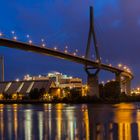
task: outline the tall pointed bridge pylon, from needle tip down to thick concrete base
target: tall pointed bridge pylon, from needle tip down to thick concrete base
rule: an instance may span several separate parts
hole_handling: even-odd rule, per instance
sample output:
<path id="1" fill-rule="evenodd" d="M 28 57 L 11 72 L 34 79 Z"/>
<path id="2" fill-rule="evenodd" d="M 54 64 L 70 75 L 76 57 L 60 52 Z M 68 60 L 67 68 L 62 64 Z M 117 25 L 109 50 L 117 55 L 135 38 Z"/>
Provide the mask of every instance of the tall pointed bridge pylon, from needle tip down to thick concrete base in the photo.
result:
<path id="1" fill-rule="evenodd" d="M 85 58 L 90 59 L 90 49 L 91 49 L 91 39 L 93 39 L 93 44 L 95 48 L 95 56 L 96 62 L 98 62 L 98 67 L 90 67 L 85 64 L 85 71 L 87 73 L 87 84 L 88 84 L 88 95 L 99 97 L 99 82 L 98 82 L 98 73 L 100 71 L 101 59 L 99 55 L 95 29 L 94 29 L 94 15 L 93 15 L 93 7 L 90 7 L 90 28 L 88 33 L 88 41 Z"/>

